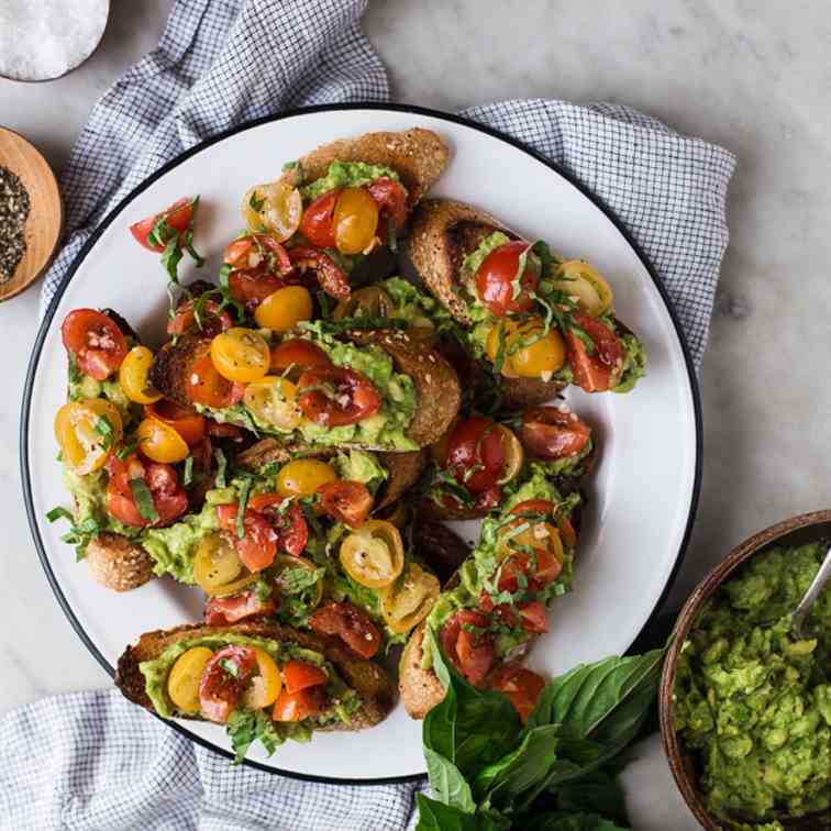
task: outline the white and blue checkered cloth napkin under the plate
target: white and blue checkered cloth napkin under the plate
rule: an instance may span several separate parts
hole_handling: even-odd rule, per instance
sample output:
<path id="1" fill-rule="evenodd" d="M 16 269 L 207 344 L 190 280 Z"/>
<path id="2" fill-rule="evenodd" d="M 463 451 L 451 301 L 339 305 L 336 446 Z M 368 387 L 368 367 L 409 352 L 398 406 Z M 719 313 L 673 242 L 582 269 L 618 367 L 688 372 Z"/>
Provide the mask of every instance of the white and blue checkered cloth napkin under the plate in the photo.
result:
<path id="1" fill-rule="evenodd" d="M 361 31 L 366 0 L 177 0 L 157 49 L 96 104 L 63 179 L 66 245 L 42 309 L 111 208 L 146 176 L 247 119 L 387 101 Z M 625 107 L 505 101 L 463 113 L 554 159 L 623 221 L 656 267 L 698 364 L 728 241 L 734 158 Z M 0 824 L 15 829 L 401 829 L 412 785 L 302 783 L 192 744 L 110 691 L 59 696 L 0 721 Z"/>

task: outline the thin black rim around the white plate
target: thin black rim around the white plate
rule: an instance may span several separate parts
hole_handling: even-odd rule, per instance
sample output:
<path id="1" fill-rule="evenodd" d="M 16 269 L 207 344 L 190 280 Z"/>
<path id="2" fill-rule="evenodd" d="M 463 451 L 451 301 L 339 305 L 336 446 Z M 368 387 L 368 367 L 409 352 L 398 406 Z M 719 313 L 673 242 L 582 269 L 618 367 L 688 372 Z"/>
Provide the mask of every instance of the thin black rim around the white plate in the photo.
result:
<path id="1" fill-rule="evenodd" d="M 182 162 L 190 158 L 191 156 L 196 155 L 197 153 L 200 153 L 207 147 L 210 147 L 212 144 L 217 144 L 218 142 L 224 141 L 225 138 L 236 135 L 237 133 L 242 133 L 245 130 L 251 130 L 253 128 L 261 126 L 262 124 L 267 124 L 269 122 L 282 121 L 285 119 L 297 118 L 297 117 L 309 114 L 309 113 L 336 112 L 336 111 L 342 111 L 342 110 L 353 110 L 353 111 L 354 110 L 368 110 L 368 111 L 374 110 L 376 112 L 385 112 L 385 111 L 399 112 L 399 113 L 403 112 L 403 113 L 411 113 L 414 115 L 425 115 L 429 118 L 434 118 L 442 121 L 448 121 L 455 124 L 461 124 L 472 130 L 476 130 L 480 133 L 485 133 L 486 135 L 489 135 L 494 138 L 498 138 L 505 142 L 506 144 L 509 144 L 512 147 L 521 151 L 522 153 L 525 153 L 532 156 L 538 162 L 541 162 L 547 168 L 556 173 L 558 176 L 562 176 L 566 181 L 573 185 L 580 193 L 583 193 L 584 197 L 586 197 L 591 202 L 594 202 L 594 204 L 596 204 L 603 212 L 603 214 L 611 221 L 611 223 L 623 235 L 623 237 L 629 243 L 631 248 L 638 255 L 639 259 L 641 261 L 644 268 L 646 269 L 650 277 L 652 278 L 652 281 L 654 282 L 655 288 L 661 295 L 661 298 L 664 301 L 664 306 L 669 314 L 669 319 L 672 320 L 673 326 L 675 329 L 676 336 L 678 337 L 678 342 L 680 343 L 682 352 L 684 354 L 684 362 L 687 368 L 687 376 L 689 379 L 689 388 L 690 388 L 690 394 L 693 398 L 693 409 L 694 409 L 695 429 L 696 429 L 695 481 L 693 484 L 693 494 L 690 498 L 689 514 L 687 517 L 687 525 L 684 530 L 684 538 L 682 539 L 680 546 L 678 547 L 678 553 L 676 554 L 676 557 L 675 557 L 675 564 L 673 565 L 669 577 L 666 581 L 666 585 L 664 586 L 664 590 L 661 592 L 661 597 L 657 599 L 657 602 L 655 603 L 652 612 L 650 613 L 650 617 L 646 619 L 646 622 L 643 624 L 643 628 L 641 629 L 641 633 L 639 634 L 639 638 L 655 621 L 655 618 L 657 617 L 661 610 L 661 607 L 664 605 L 664 601 L 666 600 L 669 589 L 672 588 L 672 585 L 675 581 L 675 578 L 678 574 L 678 569 L 684 559 L 684 555 L 687 551 L 687 545 L 689 543 L 689 536 L 693 531 L 693 522 L 695 520 L 696 511 L 698 509 L 698 499 L 699 499 L 699 495 L 701 490 L 701 464 L 702 464 L 701 457 L 702 457 L 702 451 L 703 451 L 702 429 L 701 429 L 701 399 L 700 399 L 700 392 L 698 389 L 698 380 L 696 378 L 695 367 L 693 365 L 693 359 L 689 354 L 689 347 L 687 346 L 687 341 L 684 335 L 684 331 L 680 328 L 680 323 L 678 322 L 678 318 L 675 312 L 675 309 L 673 308 L 673 303 L 669 300 L 666 289 L 661 282 L 661 279 L 658 278 L 657 273 L 655 272 L 655 268 L 652 266 L 649 258 L 646 257 L 644 252 L 641 250 L 640 245 L 632 237 L 632 235 L 630 234 L 625 225 L 603 203 L 601 199 L 599 199 L 595 193 L 588 190 L 586 186 L 583 185 L 579 180 L 577 180 L 574 176 L 572 176 L 572 174 L 564 170 L 562 167 L 559 167 L 558 165 L 556 165 L 555 163 L 553 163 L 551 159 L 546 158 L 545 156 L 541 155 L 536 151 L 528 147 L 525 144 L 518 141 L 517 138 L 513 138 L 512 136 L 500 133 L 498 130 L 494 130 L 492 128 L 486 126 L 484 124 L 478 124 L 475 121 L 470 121 L 468 119 L 462 118 L 459 115 L 454 115 L 452 113 L 442 112 L 440 110 L 431 110 L 425 107 L 418 107 L 416 104 L 354 102 L 354 103 L 340 103 L 340 104 L 319 104 L 317 107 L 303 107 L 303 108 L 298 108 L 293 110 L 286 110 L 276 115 L 266 115 L 264 118 L 255 119 L 253 121 L 246 121 L 243 124 L 240 124 L 235 128 L 225 130 L 224 132 L 219 133 L 212 138 L 208 138 L 201 142 L 200 144 L 197 144 L 196 146 L 180 154 L 173 160 L 168 162 L 166 165 L 160 167 L 154 174 L 148 176 L 141 185 L 134 188 L 126 197 L 124 197 L 124 199 L 122 199 L 119 202 L 119 204 L 115 206 L 115 208 L 113 208 L 110 211 L 110 213 L 107 214 L 103 221 L 92 232 L 92 235 L 89 237 L 89 240 L 87 240 L 86 244 L 80 250 L 80 252 L 78 252 L 78 255 L 76 256 L 75 261 L 69 267 L 69 270 L 67 272 L 66 276 L 62 280 L 60 286 L 58 286 L 58 289 L 55 292 L 55 296 L 53 297 L 52 302 L 49 303 L 49 308 L 47 309 L 46 314 L 44 315 L 43 322 L 41 323 L 41 328 L 37 332 L 37 337 L 35 340 L 34 347 L 32 351 L 32 357 L 29 363 L 29 370 L 26 373 L 26 383 L 23 389 L 23 401 L 22 401 L 21 419 L 20 419 L 20 468 L 21 468 L 21 478 L 23 480 L 23 498 L 25 501 L 26 514 L 29 518 L 29 527 L 32 531 L 32 538 L 34 539 L 35 547 L 37 549 L 37 555 L 41 559 L 41 565 L 43 566 L 43 569 L 46 573 L 46 578 L 48 579 L 49 585 L 52 586 L 52 590 L 55 594 L 55 597 L 57 598 L 57 601 L 60 605 L 60 608 L 64 610 L 64 613 L 69 619 L 69 622 L 71 623 L 73 629 L 75 630 L 76 634 L 84 642 L 84 645 L 89 650 L 89 652 L 93 655 L 93 657 L 98 661 L 98 663 L 104 668 L 104 671 L 111 677 L 114 677 L 115 675 L 114 667 L 110 665 L 107 658 L 101 654 L 98 647 L 92 643 L 90 636 L 87 634 L 84 627 L 80 624 L 80 621 L 75 617 L 75 612 L 73 608 L 69 606 L 69 602 L 67 601 L 66 597 L 64 596 L 63 590 L 60 589 L 60 586 L 58 585 L 58 580 L 55 576 L 55 573 L 52 570 L 52 566 L 46 555 L 46 549 L 43 544 L 43 539 L 41 538 L 41 532 L 37 527 L 37 518 L 35 516 L 34 505 L 33 505 L 33 499 L 32 499 L 32 477 L 29 469 L 30 401 L 32 398 L 32 389 L 34 387 L 34 379 L 35 379 L 36 370 L 37 370 L 37 365 L 40 363 L 41 353 L 43 351 L 43 342 L 46 337 L 46 333 L 48 332 L 49 326 L 52 325 L 52 320 L 55 315 L 55 311 L 57 310 L 58 303 L 60 302 L 60 299 L 64 296 L 64 291 L 66 290 L 66 287 L 69 285 L 69 281 L 71 280 L 73 276 L 78 270 L 78 268 L 80 267 L 80 264 L 84 262 L 84 259 L 86 258 L 87 254 L 90 252 L 92 246 L 95 246 L 95 244 L 98 242 L 98 239 L 101 236 L 103 231 L 107 228 L 109 228 L 109 225 L 118 218 L 121 211 L 124 208 L 126 208 L 126 206 L 130 202 L 132 202 L 133 199 L 135 199 L 135 197 L 138 196 L 138 193 L 146 190 L 151 185 L 153 185 L 157 179 L 162 178 L 165 174 L 173 170 L 175 167 L 178 167 L 178 165 L 180 165 Z M 181 724 L 178 724 L 171 721 L 165 721 L 164 719 L 160 719 L 160 717 L 158 716 L 156 718 L 159 718 L 159 720 L 164 721 L 165 724 L 173 728 L 174 730 L 181 733 L 182 735 L 186 735 L 188 739 L 196 742 L 197 744 L 200 744 L 207 750 L 213 751 L 214 753 L 219 753 L 225 756 L 226 758 L 233 758 L 233 756 L 228 751 L 214 745 L 212 742 L 206 739 L 202 739 L 199 735 L 196 735 L 195 733 L 191 733 L 190 730 L 182 727 Z M 251 767 L 257 768 L 259 771 L 265 771 L 266 773 L 277 774 L 280 776 L 287 776 L 289 778 L 300 779 L 303 782 L 317 782 L 317 783 L 324 783 L 329 785 L 394 785 L 394 784 L 403 784 L 403 783 L 416 783 L 416 782 L 422 780 L 425 777 L 425 774 L 422 773 L 422 774 L 412 774 L 412 775 L 407 775 L 407 776 L 390 776 L 390 777 L 379 777 L 379 778 L 372 778 L 372 779 L 333 778 L 330 776 L 314 776 L 311 774 L 301 774 L 301 773 L 296 773 L 293 771 L 281 771 L 277 767 L 270 767 L 259 762 L 253 762 L 253 761 L 247 761 L 247 760 L 245 764 L 250 765 Z"/>

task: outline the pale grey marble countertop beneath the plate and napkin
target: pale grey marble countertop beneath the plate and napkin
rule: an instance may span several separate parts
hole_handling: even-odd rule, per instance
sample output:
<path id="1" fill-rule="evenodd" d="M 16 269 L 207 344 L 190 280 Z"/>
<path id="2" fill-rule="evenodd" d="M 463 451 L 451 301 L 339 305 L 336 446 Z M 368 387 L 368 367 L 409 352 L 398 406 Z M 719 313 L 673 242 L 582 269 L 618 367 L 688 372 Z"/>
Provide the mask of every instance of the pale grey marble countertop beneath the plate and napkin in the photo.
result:
<path id="1" fill-rule="evenodd" d="M 0 80 L 0 123 L 26 135 L 59 170 L 95 100 L 155 45 L 170 4 L 113 3 L 101 47 L 66 78 Z M 700 376 L 703 490 L 671 602 L 752 532 L 831 506 L 823 462 L 831 416 L 826 4 L 378 0 L 365 27 L 396 100 L 446 110 L 509 97 L 614 101 L 738 155 L 731 242 Z M 19 390 L 36 311 L 36 288 L 0 304 L 4 348 L 15 356 L 0 401 L 0 712 L 106 683 L 48 590 L 21 498 Z M 635 828 L 697 828 L 657 741 L 635 755 L 628 771 Z"/>

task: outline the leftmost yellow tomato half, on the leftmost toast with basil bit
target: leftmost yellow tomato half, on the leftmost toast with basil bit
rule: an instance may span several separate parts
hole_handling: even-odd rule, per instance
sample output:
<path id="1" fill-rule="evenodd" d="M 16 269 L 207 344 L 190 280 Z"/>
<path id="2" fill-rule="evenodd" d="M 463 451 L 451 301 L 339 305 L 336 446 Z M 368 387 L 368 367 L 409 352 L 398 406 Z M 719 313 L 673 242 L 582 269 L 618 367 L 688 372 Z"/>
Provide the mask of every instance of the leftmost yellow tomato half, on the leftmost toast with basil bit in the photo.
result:
<path id="1" fill-rule="evenodd" d="M 103 467 L 123 434 L 121 413 L 104 398 L 70 401 L 55 414 L 55 437 L 64 462 L 80 475 Z"/>

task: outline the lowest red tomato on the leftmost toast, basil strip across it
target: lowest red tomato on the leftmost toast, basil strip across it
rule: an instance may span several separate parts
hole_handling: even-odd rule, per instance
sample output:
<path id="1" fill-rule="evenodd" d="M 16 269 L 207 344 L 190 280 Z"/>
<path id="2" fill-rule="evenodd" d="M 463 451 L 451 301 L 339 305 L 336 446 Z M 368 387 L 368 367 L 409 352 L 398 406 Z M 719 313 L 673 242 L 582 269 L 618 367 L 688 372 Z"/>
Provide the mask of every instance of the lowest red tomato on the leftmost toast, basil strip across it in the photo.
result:
<path id="1" fill-rule="evenodd" d="M 107 470 L 110 474 L 107 484 L 107 510 L 125 525 L 163 528 L 187 510 L 188 497 L 179 487 L 176 469 L 170 465 L 145 462 L 133 453 L 124 461 L 111 455 L 107 461 Z M 131 479 L 144 480 L 158 514 L 157 520 L 142 517 L 130 486 Z"/>

